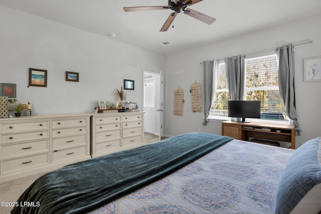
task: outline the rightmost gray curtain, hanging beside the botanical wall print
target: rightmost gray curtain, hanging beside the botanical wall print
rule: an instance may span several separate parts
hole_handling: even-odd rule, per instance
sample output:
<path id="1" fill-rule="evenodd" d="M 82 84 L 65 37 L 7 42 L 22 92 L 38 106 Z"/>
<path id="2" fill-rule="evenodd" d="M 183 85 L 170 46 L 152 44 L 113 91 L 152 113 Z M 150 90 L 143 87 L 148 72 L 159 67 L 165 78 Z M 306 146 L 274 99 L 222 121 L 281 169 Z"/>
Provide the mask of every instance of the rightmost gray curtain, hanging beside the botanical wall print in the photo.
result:
<path id="1" fill-rule="evenodd" d="M 297 121 L 295 107 L 294 87 L 294 52 L 293 45 L 278 47 L 276 50 L 278 60 L 279 91 L 285 111 L 292 124 L 295 125 L 296 135 L 300 135 L 300 124 Z"/>

